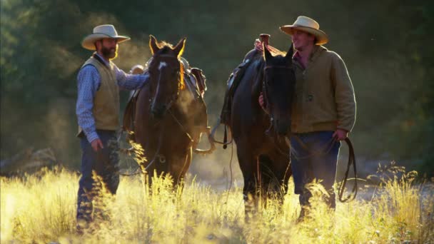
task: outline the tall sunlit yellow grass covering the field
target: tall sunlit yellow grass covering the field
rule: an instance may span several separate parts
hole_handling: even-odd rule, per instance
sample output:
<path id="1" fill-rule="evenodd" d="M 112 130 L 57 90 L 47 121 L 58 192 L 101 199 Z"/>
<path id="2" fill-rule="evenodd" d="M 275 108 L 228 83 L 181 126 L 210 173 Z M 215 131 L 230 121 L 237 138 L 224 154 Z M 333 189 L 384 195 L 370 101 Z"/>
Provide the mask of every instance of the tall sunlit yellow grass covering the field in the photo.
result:
<path id="1" fill-rule="evenodd" d="M 296 223 L 300 206 L 289 193 L 248 223 L 241 188 L 216 192 L 191 179 L 183 193 L 158 178 L 151 188 L 140 176 L 123 177 L 116 198 L 104 198 L 104 221 L 75 233 L 79 176 L 63 169 L 24 178 L 1 178 L 1 243 L 434 243 L 431 184 L 413 173 L 384 178 L 351 203 L 330 213 L 321 187 L 312 188 L 313 209 Z M 367 190 L 367 191 L 366 191 Z M 373 193 L 373 194 L 372 194 Z M 368 199 L 368 200 L 366 200 Z"/>

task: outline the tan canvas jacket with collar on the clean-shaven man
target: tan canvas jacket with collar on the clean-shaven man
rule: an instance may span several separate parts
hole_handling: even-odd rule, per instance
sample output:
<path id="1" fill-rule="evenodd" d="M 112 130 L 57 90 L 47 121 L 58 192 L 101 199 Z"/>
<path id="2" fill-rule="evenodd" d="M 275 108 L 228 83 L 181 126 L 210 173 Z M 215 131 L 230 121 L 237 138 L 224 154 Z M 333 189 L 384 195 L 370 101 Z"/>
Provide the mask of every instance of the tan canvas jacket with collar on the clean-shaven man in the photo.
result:
<path id="1" fill-rule="evenodd" d="M 306 69 L 294 59 L 296 91 L 292 133 L 351 131 L 355 123 L 353 84 L 338 54 L 316 46 Z"/>

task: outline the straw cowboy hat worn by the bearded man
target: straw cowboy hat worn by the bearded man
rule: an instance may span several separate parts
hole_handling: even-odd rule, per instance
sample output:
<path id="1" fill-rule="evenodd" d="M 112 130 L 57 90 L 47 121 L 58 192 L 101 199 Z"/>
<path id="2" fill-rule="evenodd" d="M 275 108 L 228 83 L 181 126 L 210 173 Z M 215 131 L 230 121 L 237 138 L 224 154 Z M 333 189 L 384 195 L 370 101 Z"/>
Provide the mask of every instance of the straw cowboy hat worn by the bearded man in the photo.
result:
<path id="1" fill-rule="evenodd" d="M 94 33 L 86 36 L 81 42 L 81 46 L 88 50 L 95 50 L 95 41 L 103 38 L 117 39 L 118 43 L 122 41 L 128 41 L 130 38 L 128 36 L 118 36 L 118 32 L 114 29 L 111 24 L 103 24 L 101 26 L 96 26 L 94 28 Z"/>

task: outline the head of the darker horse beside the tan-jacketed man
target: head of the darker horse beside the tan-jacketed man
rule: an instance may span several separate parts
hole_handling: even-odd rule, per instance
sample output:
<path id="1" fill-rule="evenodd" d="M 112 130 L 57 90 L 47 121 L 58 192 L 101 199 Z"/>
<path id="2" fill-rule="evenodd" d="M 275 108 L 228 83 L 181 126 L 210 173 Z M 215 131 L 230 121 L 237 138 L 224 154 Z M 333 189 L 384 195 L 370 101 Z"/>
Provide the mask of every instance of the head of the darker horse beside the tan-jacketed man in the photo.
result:
<path id="1" fill-rule="evenodd" d="M 273 56 L 263 46 L 263 96 L 270 111 L 271 123 L 278 135 L 286 135 L 291 129 L 291 104 L 296 84 L 292 56 L 292 45 L 285 56 Z"/>

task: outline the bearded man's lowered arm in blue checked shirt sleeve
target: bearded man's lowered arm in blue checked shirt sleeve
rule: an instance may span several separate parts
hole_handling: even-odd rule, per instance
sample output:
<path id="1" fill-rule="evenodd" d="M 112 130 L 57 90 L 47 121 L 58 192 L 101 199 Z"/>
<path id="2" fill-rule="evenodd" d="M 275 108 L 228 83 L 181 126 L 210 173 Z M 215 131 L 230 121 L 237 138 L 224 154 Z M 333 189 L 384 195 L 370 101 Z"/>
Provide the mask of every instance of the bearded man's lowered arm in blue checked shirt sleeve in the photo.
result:
<path id="1" fill-rule="evenodd" d="M 95 118 L 92 113 L 94 97 L 101 84 L 101 78 L 94 66 L 88 65 L 81 68 L 77 76 L 78 98 L 76 115 L 79 126 L 83 129 L 89 143 L 99 139 L 96 133 Z"/>

